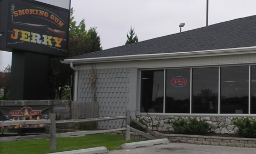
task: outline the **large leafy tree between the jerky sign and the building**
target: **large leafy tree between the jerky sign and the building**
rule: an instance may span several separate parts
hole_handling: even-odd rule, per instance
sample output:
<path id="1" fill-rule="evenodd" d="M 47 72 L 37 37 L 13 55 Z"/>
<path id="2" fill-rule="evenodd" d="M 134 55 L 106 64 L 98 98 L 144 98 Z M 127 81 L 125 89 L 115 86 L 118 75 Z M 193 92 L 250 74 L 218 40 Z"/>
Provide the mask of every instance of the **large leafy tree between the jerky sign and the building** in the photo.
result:
<path id="1" fill-rule="evenodd" d="M 62 99 L 70 91 L 71 76 L 73 70 L 67 64 L 62 64 L 60 61 L 77 55 L 91 53 L 102 50 L 100 43 L 100 36 L 98 36 L 97 28 L 90 28 L 88 31 L 85 29 L 85 20 L 83 19 L 76 26 L 76 21 L 73 16 L 73 8 L 70 10 L 69 21 L 69 43 L 68 53 L 65 58 L 53 58 L 50 64 L 49 74 L 49 99 L 57 98 Z M 65 93 L 65 94 L 64 94 Z"/>

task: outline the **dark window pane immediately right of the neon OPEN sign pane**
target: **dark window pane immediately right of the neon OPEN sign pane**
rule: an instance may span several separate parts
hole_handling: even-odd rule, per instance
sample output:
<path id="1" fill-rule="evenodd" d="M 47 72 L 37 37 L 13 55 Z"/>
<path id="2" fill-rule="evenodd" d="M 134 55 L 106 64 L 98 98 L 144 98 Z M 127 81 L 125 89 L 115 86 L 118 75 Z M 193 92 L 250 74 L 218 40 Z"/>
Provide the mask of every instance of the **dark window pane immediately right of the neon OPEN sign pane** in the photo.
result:
<path id="1" fill-rule="evenodd" d="M 193 114 L 218 114 L 218 85 L 219 68 L 193 69 Z"/>

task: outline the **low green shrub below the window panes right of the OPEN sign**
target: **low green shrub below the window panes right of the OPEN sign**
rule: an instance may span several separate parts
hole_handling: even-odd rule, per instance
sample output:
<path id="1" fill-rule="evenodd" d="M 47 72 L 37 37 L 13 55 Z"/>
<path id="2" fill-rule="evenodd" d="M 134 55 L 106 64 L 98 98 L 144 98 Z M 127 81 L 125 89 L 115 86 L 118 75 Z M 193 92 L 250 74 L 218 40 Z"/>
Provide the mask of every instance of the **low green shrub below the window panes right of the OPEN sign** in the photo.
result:
<path id="1" fill-rule="evenodd" d="M 197 120 L 196 118 L 185 121 L 184 119 L 170 121 L 172 124 L 173 132 L 175 134 L 195 134 L 204 135 L 212 129 L 212 126 L 206 123 L 206 121 Z"/>

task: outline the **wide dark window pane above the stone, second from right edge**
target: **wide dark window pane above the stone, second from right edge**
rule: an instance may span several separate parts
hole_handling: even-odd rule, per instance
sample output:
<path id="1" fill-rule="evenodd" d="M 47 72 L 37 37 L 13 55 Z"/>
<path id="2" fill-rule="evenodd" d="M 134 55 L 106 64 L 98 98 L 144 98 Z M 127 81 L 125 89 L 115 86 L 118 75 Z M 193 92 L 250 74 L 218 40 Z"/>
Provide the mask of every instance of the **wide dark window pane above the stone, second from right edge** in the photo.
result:
<path id="1" fill-rule="evenodd" d="M 249 114 L 249 67 L 221 68 L 220 114 Z"/>

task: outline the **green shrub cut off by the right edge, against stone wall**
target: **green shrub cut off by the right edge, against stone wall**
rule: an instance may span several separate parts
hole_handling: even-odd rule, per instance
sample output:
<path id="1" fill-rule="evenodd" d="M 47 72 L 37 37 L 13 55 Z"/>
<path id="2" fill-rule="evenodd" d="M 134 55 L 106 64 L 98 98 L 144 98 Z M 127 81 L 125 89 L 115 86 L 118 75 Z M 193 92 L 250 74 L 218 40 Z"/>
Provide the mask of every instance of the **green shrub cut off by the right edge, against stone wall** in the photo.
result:
<path id="1" fill-rule="evenodd" d="M 234 125 L 238 128 L 238 134 L 245 138 L 256 138 L 256 121 L 249 118 L 235 119 Z"/>

